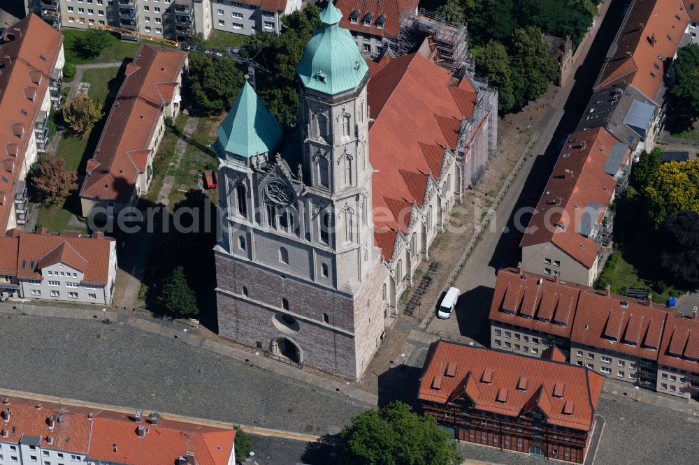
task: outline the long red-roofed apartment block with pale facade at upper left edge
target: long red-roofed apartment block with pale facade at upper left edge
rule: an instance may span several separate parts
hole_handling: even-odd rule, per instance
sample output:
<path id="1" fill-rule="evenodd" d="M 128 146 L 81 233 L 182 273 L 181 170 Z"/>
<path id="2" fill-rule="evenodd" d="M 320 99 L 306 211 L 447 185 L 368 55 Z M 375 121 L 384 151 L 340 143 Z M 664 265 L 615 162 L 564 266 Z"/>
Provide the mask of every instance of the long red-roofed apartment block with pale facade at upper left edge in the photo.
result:
<path id="1" fill-rule="evenodd" d="M 0 234 L 27 223 L 26 177 L 62 95 L 63 36 L 36 15 L 0 29 Z"/>

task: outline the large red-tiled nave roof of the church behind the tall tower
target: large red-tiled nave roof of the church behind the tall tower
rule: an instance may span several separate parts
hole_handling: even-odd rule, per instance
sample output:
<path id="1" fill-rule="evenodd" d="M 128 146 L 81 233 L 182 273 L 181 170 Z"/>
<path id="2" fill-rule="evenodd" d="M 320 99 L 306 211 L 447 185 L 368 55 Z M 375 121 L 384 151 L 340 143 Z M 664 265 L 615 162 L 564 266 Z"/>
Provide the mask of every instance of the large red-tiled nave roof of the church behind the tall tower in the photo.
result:
<path id="1" fill-rule="evenodd" d="M 454 93 L 454 84 L 445 69 L 417 53 L 391 59 L 369 80 L 372 202 L 375 213 L 386 212 L 375 215 L 375 243 L 386 260 L 396 231 L 408 229 L 412 203 L 424 201 L 428 174 L 439 177 L 445 149 L 454 149 L 461 119 L 471 116 L 461 112 L 468 87 Z"/>

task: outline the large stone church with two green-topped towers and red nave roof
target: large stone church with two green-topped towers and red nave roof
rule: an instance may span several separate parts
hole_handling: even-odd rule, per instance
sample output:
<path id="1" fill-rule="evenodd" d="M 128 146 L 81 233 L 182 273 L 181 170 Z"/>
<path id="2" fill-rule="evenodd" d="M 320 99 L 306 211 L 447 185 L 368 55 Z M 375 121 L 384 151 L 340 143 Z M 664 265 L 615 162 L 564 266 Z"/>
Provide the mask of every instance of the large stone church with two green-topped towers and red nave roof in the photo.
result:
<path id="1" fill-rule="evenodd" d="M 497 94 L 419 53 L 368 63 L 341 18 L 298 64 L 295 131 L 247 81 L 219 128 L 217 307 L 222 337 L 357 379 L 495 151 Z"/>

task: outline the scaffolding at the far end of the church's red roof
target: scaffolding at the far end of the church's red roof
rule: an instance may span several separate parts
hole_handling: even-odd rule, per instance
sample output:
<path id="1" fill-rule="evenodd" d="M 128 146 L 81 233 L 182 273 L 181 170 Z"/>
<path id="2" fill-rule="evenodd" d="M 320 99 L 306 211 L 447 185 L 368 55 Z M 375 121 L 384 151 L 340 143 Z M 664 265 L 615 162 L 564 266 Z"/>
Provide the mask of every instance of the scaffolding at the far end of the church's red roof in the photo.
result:
<path id="1" fill-rule="evenodd" d="M 466 25 L 456 26 L 424 8 L 417 15 L 403 13 L 398 36 L 398 54 L 415 52 L 422 40 L 430 36 L 440 59 L 438 64 L 452 71 L 473 72 L 473 59 L 468 54 Z"/>

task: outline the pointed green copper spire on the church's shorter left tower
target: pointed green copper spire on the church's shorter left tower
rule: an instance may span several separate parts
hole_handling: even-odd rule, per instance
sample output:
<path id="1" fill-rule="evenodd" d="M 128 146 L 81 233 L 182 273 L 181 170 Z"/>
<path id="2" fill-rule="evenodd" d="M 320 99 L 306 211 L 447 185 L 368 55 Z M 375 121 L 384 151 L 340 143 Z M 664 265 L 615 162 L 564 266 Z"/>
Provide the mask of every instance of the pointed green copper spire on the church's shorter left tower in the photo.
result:
<path id="1" fill-rule="evenodd" d="M 247 76 L 216 135 L 214 148 L 221 157 L 226 152 L 246 158 L 271 152 L 282 138 L 282 128 L 247 82 Z"/>

